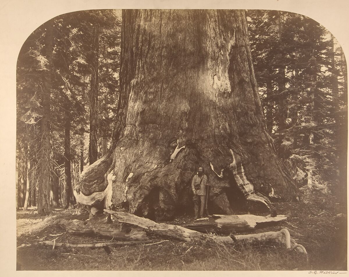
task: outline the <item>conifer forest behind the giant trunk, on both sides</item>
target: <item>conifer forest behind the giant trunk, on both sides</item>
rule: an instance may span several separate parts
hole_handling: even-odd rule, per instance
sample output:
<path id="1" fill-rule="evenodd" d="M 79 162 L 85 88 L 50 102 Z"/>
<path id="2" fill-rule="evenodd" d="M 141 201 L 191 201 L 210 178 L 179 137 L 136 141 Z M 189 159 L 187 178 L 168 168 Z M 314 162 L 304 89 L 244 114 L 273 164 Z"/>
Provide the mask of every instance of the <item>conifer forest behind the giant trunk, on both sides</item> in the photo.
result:
<path id="1" fill-rule="evenodd" d="M 110 147 L 120 21 L 118 10 L 64 14 L 23 44 L 17 62 L 17 208 L 38 206 L 40 198 L 51 205 L 39 213 L 74 205 L 72 188 L 81 172 Z M 332 194 L 345 202 L 347 68 L 339 43 L 294 13 L 248 10 L 247 21 L 267 130 L 300 188 L 300 201 L 326 204 Z"/>

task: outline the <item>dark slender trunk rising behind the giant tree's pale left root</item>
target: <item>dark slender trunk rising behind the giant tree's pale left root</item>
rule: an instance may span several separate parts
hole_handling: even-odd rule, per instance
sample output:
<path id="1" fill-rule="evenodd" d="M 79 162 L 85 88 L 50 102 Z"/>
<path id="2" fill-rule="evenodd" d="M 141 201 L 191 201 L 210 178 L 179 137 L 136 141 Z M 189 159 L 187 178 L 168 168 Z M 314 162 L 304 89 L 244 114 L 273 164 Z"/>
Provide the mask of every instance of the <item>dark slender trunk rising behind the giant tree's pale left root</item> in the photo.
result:
<path id="1" fill-rule="evenodd" d="M 90 105 L 90 143 L 89 161 L 90 165 L 97 160 L 98 141 L 98 57 L 99 57 L 99 30 L 94 28 L 94 58 L 91 63 L 91 87 L 89 91 Z"/>

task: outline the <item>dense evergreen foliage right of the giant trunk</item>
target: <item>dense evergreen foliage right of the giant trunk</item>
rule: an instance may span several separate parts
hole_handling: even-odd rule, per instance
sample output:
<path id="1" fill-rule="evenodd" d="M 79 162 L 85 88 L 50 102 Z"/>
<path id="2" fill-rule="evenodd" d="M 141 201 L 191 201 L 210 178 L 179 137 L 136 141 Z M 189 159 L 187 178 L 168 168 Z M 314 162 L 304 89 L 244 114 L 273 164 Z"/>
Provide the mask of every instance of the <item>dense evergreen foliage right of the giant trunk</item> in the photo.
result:
<path id="1" fill-rule="evenodd" d="M 347 83 L 341 77 L 346 64 L 339 63 L 340 51 L 333 47 L 338 43 L 303 15 L 249 10 L 247 18 L 267 129 L 279 157 L 308 192 L 306 198 L 323 201 L 334 190 L 340 195 L 346 181 L 336 187 L 338 159 L 346 151 L 340 147 L 346 135 L 336 134 L 346 133 Z"/>

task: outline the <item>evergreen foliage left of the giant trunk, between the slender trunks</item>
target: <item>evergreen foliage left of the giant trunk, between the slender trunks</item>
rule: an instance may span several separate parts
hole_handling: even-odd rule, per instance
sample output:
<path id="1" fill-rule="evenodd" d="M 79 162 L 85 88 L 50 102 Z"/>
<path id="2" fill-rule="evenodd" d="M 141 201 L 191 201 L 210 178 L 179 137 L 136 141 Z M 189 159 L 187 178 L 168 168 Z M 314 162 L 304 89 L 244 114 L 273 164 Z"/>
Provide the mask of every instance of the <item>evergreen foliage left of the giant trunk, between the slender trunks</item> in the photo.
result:
<path id="1" fill-rule="evenodd" d="M 48 60 L 48 55 L 43 52 L 45 36 L 48 34 L 45 24 L 51 24 L 52 27 L 52 55 L 49 55 L 51 60 Z M 55 190 L 51 184 L 51 200 L 54 198 L 53 191 L 58 192 L 59 204 L 64 206 L 66 199 L 73 197 L 71 193 L 66 193 L 70 188 L 66 185 L 67 182 L 69 183 L 70 179 L 73 179 L 73 184 L 76 182 L 79 176 L 79 162 L 82 161 L 83 168 L 88 160 L 87 152 L 81 151 L 80 148 L 86 148 L 86 145 L 88 147 L 84 136 L 89 132 L 88 92 L 94 60 L 98 60 L 97 132 L 101 138 L 109 138 L 109 141 L 111 138 L 118 98 L 120 18 L 114 10 L 86 10 L 60 15 L 45 24 L 28 37 L 17 61 L 17 170 L 18 178 L 26 176 L 28 161 L 34 161 L 31 170 L 37 171 L 36 176 L 40 174 L 36 166 L 40 160 L 40 121 L 43 116 L 40 87 L 43 82 L 42 72 L 48 72 L 51 86 L 51 175 L 57 175 L 57 172 L 60 175 L 59 183 L 54 184 L 60 186 L 60 189 Z M 94 29 L 99 30 L 98 53 L 93 51 Z M 100 157 L 101 151 L 98 154 Z M 65 170 L 64 164 L 68 165 Z M 72 172 L 66 172 L 64 178 L 63 170 L 70 169 L 70 164 Z M 52 176 L 51 183 L 54 179 Z M 22 183 L 18 182 L 17 196 L 25 194 L 25 184 Z M 31 190 L 37 191 L 35 187 Z M 23 203 L 19 206 L 23 206 Z"/>

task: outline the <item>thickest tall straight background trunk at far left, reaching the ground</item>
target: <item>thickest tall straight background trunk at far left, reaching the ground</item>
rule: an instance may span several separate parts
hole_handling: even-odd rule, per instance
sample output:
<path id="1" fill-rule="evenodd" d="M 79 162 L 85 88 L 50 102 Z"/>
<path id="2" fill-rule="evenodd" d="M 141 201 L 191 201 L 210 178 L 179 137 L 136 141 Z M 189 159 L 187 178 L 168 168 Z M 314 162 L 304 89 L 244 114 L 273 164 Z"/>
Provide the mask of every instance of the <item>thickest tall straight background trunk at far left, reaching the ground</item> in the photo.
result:
<path id="1" fill-rule="evenodd" d="M 53 20 L 45 23 L 45 46 L 44 53 L 48 61 L 43 70 L 43 85 L 41 87 L 41 149 L 40 149 L 40 176 L 38 214 L 49 215 L 50 205 L 50 115 L 51 115 L 51 63 L 52 63 L 52 30 Z"/>

